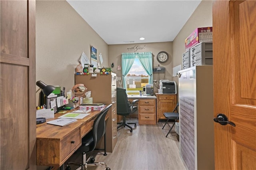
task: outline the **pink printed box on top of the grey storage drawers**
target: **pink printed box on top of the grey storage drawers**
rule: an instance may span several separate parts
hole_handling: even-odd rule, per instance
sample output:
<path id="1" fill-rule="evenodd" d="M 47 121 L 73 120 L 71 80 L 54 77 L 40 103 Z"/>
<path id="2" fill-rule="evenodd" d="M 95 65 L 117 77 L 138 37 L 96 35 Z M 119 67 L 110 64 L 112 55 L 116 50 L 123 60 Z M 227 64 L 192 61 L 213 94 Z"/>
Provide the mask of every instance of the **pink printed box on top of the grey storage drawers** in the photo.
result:
<path id="1" fill-rule="evenodd" d="M 185 50 L 200 42 L 212 42 L 212 27 L 196 28 L 185 40 Z"/>

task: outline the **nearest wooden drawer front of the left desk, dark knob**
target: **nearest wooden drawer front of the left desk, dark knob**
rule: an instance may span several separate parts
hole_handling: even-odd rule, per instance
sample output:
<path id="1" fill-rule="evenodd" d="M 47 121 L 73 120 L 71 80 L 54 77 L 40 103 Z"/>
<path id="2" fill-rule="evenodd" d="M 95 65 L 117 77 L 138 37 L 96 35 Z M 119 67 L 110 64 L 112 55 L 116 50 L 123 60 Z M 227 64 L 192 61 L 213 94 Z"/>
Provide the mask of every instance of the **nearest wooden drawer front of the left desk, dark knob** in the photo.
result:
<path id="1" fill-rule="evenodd" d="M 60 141 L 60 161 L 64 160 L 80 143 L 80 129 L 78 128 Z"/>

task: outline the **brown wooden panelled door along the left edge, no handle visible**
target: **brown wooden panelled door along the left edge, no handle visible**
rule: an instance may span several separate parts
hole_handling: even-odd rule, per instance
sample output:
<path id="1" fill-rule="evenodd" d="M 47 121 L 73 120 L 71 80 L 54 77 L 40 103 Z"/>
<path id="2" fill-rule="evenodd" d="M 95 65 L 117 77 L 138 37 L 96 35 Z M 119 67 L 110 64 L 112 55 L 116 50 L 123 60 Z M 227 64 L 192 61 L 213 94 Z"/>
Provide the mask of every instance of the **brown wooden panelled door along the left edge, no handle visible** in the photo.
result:
<path id="1" fill-rule="evenodd" d="M 36 169 L 35 1 L 0 1 L 1 170 Z"/>

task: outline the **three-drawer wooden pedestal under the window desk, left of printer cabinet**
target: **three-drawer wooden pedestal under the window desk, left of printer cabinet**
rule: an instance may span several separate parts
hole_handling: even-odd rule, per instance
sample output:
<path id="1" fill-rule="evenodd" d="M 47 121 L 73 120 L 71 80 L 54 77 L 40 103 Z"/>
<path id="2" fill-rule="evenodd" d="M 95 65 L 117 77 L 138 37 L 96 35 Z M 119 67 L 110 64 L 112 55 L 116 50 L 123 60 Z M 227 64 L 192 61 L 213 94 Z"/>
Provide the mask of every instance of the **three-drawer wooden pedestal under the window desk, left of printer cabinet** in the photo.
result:
<path id="1" fill-rule="evenodd" d="M 139 124 L 156 125 L 156 99 L 140 99 Z"/>

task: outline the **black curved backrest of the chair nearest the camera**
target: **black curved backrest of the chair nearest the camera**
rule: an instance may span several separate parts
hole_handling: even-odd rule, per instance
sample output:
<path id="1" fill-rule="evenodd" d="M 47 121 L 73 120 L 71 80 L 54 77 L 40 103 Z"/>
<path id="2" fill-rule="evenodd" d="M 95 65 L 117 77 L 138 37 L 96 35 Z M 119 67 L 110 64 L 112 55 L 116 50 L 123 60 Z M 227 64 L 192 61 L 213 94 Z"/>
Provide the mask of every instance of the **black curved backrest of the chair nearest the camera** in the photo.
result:
<path id="1" fill-rule="evenodd" d="M 94 146 L 90 149 L 90 151 L 95 149 L 96 144 L 98 143 L 98 140 L 100 140 L 106 132 L 105 118 L 106 118 L 106 114 L 111 106 L 112 106 L 112 104 L 105 107 L 105 109 L 103 109 L 100 112 L 100 114 L 96 117 L 96 119 L 93 123 L 92 133 L 93 133 Z"/>

